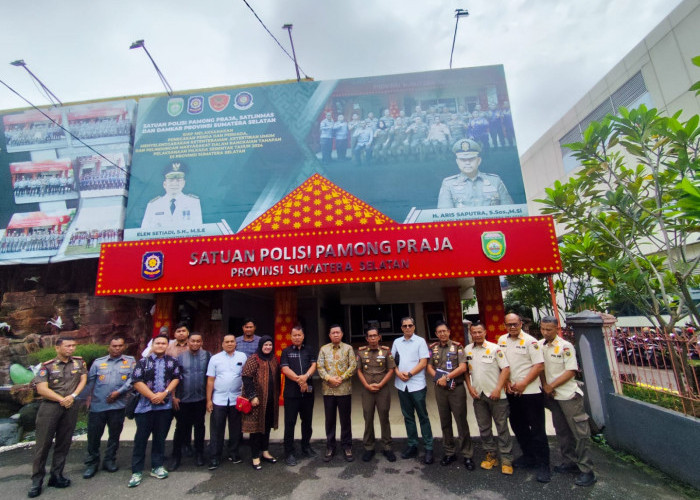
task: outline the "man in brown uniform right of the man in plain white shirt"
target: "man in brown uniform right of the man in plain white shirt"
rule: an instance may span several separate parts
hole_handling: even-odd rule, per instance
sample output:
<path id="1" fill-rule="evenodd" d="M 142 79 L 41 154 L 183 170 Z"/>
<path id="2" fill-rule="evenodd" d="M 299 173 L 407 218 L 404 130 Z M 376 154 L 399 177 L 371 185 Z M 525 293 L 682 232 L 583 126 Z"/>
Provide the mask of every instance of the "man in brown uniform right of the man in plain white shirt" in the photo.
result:
<path id="1" fill-rule="evenodd" d="M 464 466 L 467 470 L 474 470 L 474 446 L 467 424 L 467 392 L 464 389 L 467 358 L 462 344 L 450 340 L 450 330 L 444 321 L 438 321 L 435 325 L 435 334 L 440 340 L 429 347 L 428 375 L 435 381 L 435 402 L 442 427 L 445 455 L 440 460 L 440 465 L 449 465 L 457 459 L 457 446 L 452 432 L 454 416 Z"/>

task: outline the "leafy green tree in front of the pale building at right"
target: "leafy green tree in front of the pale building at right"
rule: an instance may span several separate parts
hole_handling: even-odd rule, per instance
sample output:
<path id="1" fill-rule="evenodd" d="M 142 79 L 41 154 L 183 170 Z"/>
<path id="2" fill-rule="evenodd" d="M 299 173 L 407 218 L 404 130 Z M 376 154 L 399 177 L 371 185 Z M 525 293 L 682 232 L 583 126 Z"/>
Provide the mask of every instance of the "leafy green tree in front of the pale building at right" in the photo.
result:
<path id="1" fill-rule="evenodd" d="M 681 122 L 680 114 L 640 106 L 591 123 L 583 141 L 567 145 L 581 170 L 536 200 L 574 235 L 561 244 L 570 265 L 589 266 L 604 295 L 665 327 L 688 312 L 700 321 L 690 296 L 700 256 L 688 252 L 694 223 L 679 203 L 700 173 L 700 127 L 697 115 Z"/>

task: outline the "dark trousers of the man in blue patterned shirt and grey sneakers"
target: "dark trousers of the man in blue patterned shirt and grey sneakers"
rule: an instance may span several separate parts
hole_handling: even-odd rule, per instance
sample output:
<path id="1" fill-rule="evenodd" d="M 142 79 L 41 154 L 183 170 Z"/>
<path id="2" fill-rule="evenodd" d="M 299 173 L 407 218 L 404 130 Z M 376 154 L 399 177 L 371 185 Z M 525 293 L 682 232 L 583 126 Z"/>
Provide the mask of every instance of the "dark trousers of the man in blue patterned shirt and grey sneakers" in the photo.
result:
<path id="1" fill-rule="evenodd" d="M 173 418 L 172 410 L 148 411 L 137 413 L 136 435 L 134 436 L 134 454 L 131 457 L 131 472 L 143 472 L 146 461 L 146 446 L 148 438 L 153 434 L 151 445 L 151 468 L 156 469 L 165 461 L 165 438 L 170 430 Z"/>

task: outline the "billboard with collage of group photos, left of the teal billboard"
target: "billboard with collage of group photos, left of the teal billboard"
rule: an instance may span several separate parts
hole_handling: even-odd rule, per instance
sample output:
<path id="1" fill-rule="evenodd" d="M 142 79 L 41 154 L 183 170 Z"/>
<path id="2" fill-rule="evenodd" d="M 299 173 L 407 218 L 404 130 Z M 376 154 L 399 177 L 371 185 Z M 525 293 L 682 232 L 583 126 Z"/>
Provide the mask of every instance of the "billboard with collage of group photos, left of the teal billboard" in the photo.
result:
<path id="1" fill-rule="evenodd" d="M 0 116 L 0 264 L 97 257 L 123 237 L 136 101 Z"/>

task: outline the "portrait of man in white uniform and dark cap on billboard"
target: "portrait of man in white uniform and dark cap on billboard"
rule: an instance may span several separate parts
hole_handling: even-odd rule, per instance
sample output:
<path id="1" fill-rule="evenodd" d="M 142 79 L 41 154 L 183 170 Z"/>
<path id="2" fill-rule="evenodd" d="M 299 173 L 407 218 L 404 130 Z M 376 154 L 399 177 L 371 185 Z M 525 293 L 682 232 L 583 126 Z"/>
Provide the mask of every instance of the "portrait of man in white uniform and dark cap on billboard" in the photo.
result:
<path id="1" fill-rule="evenodd" d="M 173 161 L 163 169 L 165 194 L 148 202 L 141 221 L 142 229 L 187 228 L 202 225 L 199 197 L 183 193 L 187 166 Z"/>

